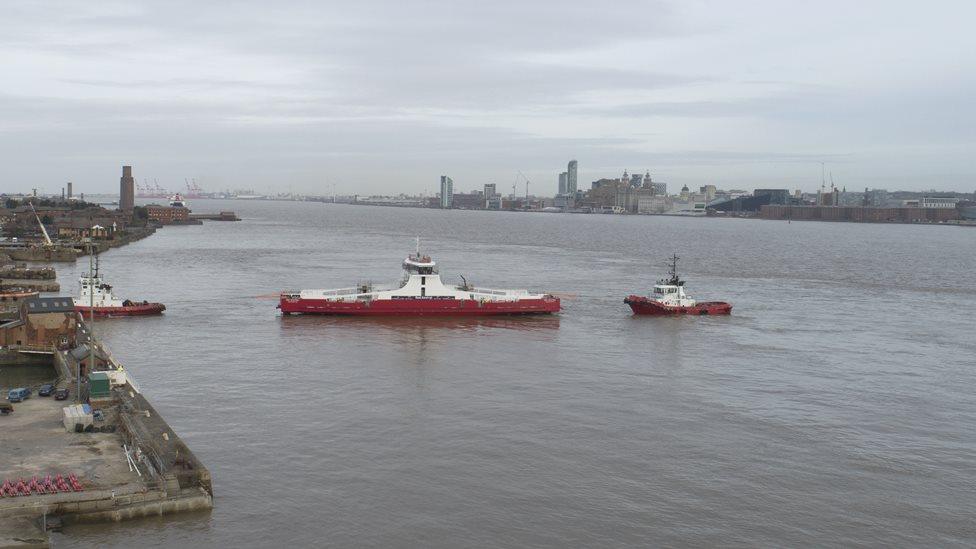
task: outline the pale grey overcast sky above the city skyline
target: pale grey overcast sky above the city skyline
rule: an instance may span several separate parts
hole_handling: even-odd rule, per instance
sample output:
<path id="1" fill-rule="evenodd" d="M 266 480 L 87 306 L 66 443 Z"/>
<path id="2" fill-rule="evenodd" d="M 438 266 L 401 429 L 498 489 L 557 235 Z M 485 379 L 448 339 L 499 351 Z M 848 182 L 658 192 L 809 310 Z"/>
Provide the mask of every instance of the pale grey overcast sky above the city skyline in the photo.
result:
<path id="1" fill-rule="evenodd" d="M 976 3 L 0 6 L 0 190 L 976 190 Z M 519 192 L 524 192 L 519 181 Z M 675 188 L 675 187 L 671 187 Z"/>

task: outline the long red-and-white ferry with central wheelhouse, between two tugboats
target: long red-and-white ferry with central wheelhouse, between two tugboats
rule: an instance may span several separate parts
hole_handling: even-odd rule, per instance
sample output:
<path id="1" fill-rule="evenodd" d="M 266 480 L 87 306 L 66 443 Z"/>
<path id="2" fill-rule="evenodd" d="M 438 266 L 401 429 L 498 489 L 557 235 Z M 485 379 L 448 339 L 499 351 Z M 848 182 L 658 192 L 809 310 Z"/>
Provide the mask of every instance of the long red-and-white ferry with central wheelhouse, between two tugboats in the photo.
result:
<path id="1" fill-rule="evenodd" d="M 488 316 L 559 312 L 559 298 L 527 290 L 475 288 L 441 281 L 437 264 L 417 252 L 403 260 L 403 280 L 398 287 L 380 288 L 370 283 L 336 290 L 286 291 L 280 295 L 282 314 L 372 316 Z"/>

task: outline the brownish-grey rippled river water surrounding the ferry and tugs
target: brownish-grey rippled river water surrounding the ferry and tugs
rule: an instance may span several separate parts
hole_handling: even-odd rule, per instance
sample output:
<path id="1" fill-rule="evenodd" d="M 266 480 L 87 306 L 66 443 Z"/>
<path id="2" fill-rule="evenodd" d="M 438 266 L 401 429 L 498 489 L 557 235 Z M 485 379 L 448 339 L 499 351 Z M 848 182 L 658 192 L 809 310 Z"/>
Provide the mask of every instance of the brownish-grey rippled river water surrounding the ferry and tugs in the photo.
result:
<path id="1" fill-rule="evenodd" d="M 96 330 L 214 477 L 212 513 L 58 547 L 976 544 L 976 230 L 199 200 L 102 256 Z M 549 290 L 546 318 L 282 318 L 282 289 Z M 623 303 L 682 257 L 729 317 Z M 59 271 L 77 291 L 87 261 Z M 262 297 L 265 296 L 265 297 Z"/>

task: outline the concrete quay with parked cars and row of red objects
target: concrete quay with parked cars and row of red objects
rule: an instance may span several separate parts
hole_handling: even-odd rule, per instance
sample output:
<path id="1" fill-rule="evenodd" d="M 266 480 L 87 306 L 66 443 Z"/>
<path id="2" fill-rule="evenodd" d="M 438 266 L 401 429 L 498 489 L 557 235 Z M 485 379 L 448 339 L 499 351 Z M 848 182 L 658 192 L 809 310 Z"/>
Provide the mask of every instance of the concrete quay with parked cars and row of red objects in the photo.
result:
<path id="1" fill-rule="evenodd" d="M 69 431 L 63 424 L 62 408 L 75 401 L 73 372 L 79 367 L 70 351 L 52 351 L 45 364 L 53 365 L 57 385 L 70 389 L 69 400 L 39 397 L 35 391 L 31 398 L 14 403 L 13 413 L 0 416 L 0 483 L 74 474 L 82 487 L 0 497 L 0 549 L 47 547 L 46 529 L 58 525 L 213 507 L 210 472 L 111 353 L 96 348 L 99 370 L 104 367 L 111 373 L 113 387 L 107 397 L 91 400 L 92 409 L 103 417 L 95 420 L 92 432 Z M 87 383 L 81 389 L 83 395 L 89 393 Z"/>

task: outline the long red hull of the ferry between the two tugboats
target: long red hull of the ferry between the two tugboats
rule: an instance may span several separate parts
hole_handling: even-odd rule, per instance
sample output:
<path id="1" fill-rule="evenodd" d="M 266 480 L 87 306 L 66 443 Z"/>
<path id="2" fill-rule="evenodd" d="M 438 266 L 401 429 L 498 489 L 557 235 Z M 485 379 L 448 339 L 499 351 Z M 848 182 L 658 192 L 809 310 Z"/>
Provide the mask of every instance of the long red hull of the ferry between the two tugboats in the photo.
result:
<path id="1" fill-rule="evenodd" d="M 491 316 L 532 315 L 559 312 L 558 297 L 521 299 L 514 302 L 486 302 L 471 299 L 378 299 L 374 301 L 329 301 L 288 299 L 278 304 L 282 314 L 361 316 Z"/>

